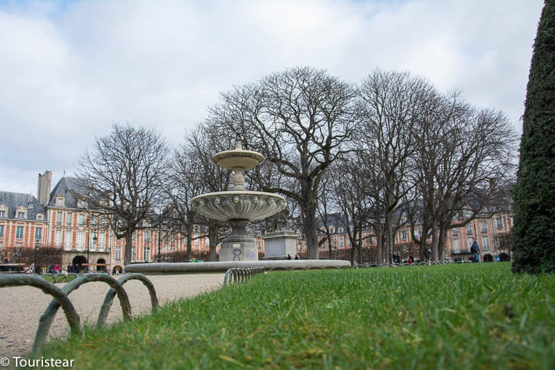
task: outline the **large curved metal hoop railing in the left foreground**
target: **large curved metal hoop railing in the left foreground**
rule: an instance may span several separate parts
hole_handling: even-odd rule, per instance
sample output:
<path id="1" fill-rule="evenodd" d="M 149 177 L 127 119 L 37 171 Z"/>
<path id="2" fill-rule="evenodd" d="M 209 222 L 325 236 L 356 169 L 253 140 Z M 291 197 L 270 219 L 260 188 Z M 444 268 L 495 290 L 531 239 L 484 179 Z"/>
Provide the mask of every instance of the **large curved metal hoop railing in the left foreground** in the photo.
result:
<path id="1" fill-rule="evenodd" d="M 65 279 L 67 280 L 67 276 L 65 276 Z M 69 301 L 68 296 L 71 292 L 78 289 L 78 287 L 83 284 L 101 281 L 103 283 L 107 283 L 111 287 L 104 298 L 99 319 L 96 323 L 97 326 L 104 325 L 106 317 L 108 317 L 110 307 L 112 306 L 112 301 L 116 295 L 119 299 L 119 304 L 121 305 L 123 319 L 130 319 L 131 305 L 129 303 L 127 292 L 123 289 L 123 284 L 128 280 L 141 280 L 142 283 L 146 285 L 148 293 L 151 296 L 152 309 L 155 310 L 158 307 L 158 299 L 156 297 L 154 285 L 151 280 L 148 280 L 148 278 L 142 274 L 124 274 L 118 280 L 105 273 L 79 274 L 74 280 L 71 280 L 61 289 L 56 287 L 53 283 L 49 283 L 49 281 L 44 279 L 42 276 L 31 274 L 0 275 L 0 287 L 29 285 L 31 287 L 37 287 L 41 289 L 42 292 L 53 296 L 53 300 L 50 302 L 49 306 L 46 308 L 39 320 L 37 334 L 35 335 L 35 342 L 33 343 L 33 351 L 35 351 L 42 343 L 44 343 L 44 340 L 48 336 L 54 317 L 56 317 L 56 313 L 60 307 L 64 310 L 71 333 L 78 333 L 80 331 L 79 315 L 77 314 L 74 305 L 71 301 Z"/>

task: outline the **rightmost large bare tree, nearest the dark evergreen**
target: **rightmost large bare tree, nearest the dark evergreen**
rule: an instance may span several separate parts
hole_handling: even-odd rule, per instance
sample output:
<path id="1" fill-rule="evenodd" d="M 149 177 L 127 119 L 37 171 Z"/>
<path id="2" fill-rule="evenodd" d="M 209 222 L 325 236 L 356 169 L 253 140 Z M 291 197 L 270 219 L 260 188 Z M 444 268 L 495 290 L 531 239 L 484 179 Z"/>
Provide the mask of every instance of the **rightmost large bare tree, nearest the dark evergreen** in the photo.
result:
<path id="1" fill-rule="evenodd" d="M 443 101 L 440 114 L 422 121 L 414 136 L 419 146 L 421 237 L 432 236 L 434 260 L 445 257 L 450 228 L 489 212 L 495 197 L 513 180 L 515 168 L 515 134 L 502 112 L 473 108 L 458 94 Z"/>

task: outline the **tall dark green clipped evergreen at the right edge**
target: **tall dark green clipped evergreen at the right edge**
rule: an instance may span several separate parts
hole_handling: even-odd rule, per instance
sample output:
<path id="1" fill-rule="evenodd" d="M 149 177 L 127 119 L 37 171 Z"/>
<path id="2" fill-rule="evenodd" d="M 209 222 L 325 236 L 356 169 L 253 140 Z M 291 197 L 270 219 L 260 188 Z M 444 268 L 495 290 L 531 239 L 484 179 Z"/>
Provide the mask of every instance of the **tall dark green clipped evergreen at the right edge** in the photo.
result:
<path id="1" fill-rule="evenodd" d="M 513 271 L 555 272 L 555 0 L 533 45 L 513 196 Z"/>

